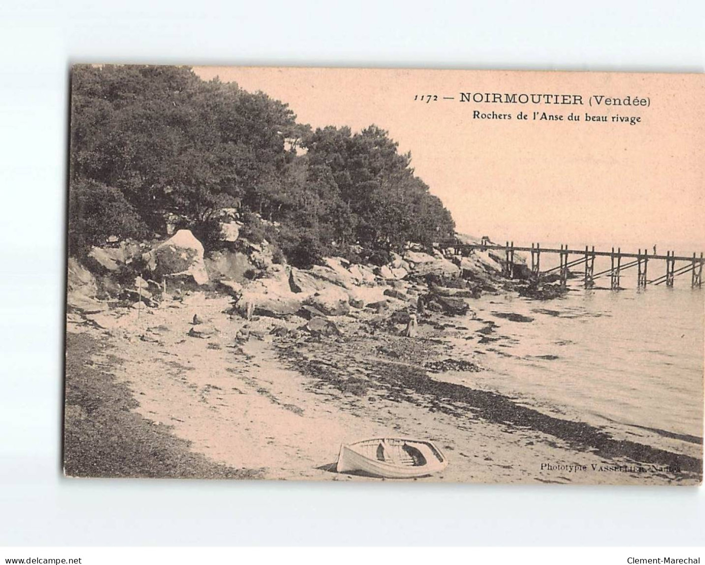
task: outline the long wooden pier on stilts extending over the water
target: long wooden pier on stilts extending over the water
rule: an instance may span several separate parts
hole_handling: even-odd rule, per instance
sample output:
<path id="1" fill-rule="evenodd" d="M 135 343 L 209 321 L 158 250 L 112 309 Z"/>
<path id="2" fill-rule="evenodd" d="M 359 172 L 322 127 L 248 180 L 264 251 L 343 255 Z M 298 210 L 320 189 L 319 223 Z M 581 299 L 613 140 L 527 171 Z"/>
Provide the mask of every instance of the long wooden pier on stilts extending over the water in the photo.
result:
<path id="1" fill-rule="evenodd" d="M 693 288 L 702 287 L 702 271 L 705 258 L 701 252 L 699 256 L 695 253 L 691 256 L 676 256 L 675 252 L 666 252 L 666 255 L 649 254 L 646 249 L 639 249 L 637 253 L 623 252 L 620 247 L 613 247 L 611 251 L 595 251 L 595 247 L 585 249 L 568 249 L 568 245 L 561 245 L 560 249 L 551 249 L 541 247 L 540 244 L 531 244 L 531 247 L 517 247 L 514 242 L 506 242 L 505 245 L 497 245 L 490 243 L 464 244 L 458 241 L 446 242 L 443 244 L 445 249 L 453 249 L 455 254 L 467 256 L 475 249 L 479 251 L 494 250 L 504 252 L 505 265 L 504 271 L 508 278 L 513 278 L 515 273 L 515 252 L 529 253 L 531 256 L 531 275 L 533 278 L 540 278 L 551 273 L 558 272 L 560 285 L 565 286 L 570 275 L 570 268 L 584 266 L 584 274 L 582 275 L 583 285 L 586 288 L 594 287 L 595 280 L 599 278 L 610 277 L 610 287 L 613 290 L 620 288 L 621 278 L 624 271 L 636 267 L 637 271 L 637 286 L 645 288 L 646 285 L 662 285 L 673 287 L 675 278 L 678 275 L 690 273 L 690 285 Z M 546 271 L 541 271 L 541 255 L 542 254 L 558 254 L 560 265 L 550 268 Z M 595 273 L 595 258 L 609 257 L 611 261 L 610 268 Z M 656 278 L 649 280 L 649 263 L 654 261 L 665 262 L 665 272 L 663 275 L 658 275 Z M 676 263 L 680 263 L 677 267 Z M 685 264 L 683 264 L 685 263 Z M 654 272 L 654 266 L 651 266 L 651 271 Z"/>

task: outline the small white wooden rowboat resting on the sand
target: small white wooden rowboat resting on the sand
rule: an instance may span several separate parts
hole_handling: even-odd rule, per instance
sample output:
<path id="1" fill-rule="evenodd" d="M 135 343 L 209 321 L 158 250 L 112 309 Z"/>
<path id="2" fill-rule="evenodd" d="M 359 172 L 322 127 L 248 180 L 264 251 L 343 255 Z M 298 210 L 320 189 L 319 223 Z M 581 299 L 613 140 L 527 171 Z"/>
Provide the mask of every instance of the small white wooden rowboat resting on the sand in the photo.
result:
<path id="1" fill-rule="evenodd" d="M 341 445 L 338 473 L 364 473 L 383 478 L 413 478 L 443 471 L 448 460 L 431 442 L 378 437 Z"/>

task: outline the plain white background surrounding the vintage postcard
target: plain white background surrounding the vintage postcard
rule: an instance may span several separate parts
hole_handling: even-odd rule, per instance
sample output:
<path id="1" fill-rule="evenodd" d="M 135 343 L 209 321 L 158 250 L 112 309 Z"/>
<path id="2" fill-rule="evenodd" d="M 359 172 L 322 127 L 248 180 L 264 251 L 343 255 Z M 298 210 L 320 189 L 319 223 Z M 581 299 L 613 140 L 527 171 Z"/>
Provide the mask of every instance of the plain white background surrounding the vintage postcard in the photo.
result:
<path id="1" fill-rule="evenodd" d="M 59 462 L 70 63 L 702 72 L 704 23 L 700 1 L 0 3 L 0 545 L 705 545 L 702 488 L 67 480 Z"/>

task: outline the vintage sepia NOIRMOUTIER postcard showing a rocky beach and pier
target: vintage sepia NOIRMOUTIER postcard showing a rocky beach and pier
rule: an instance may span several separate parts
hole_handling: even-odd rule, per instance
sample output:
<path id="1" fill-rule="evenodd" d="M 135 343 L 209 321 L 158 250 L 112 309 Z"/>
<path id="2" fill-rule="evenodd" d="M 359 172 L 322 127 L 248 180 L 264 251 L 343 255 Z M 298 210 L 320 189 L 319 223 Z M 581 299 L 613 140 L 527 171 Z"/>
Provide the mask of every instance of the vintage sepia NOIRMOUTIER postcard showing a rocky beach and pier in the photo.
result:
<path id="1" fill-rule="evenodd" d="M 699 485 L 704 87 L 75 66 L 66 475 Z"/>

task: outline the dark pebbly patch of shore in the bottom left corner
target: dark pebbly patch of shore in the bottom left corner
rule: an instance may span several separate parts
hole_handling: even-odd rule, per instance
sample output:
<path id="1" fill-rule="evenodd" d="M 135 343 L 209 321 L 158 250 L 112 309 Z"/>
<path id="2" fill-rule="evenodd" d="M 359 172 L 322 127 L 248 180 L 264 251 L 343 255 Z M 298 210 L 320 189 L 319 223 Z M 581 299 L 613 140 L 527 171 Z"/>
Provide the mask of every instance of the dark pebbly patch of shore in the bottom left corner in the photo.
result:
<path id="1" fill-rule="evenodd" d="M 190 449 L 169 426 L 137 409 L 140 394 L 111 374 L 114 348 L 87 333 L 67 333 L 63 471 L 68 477 L 259 478 Z"/>

